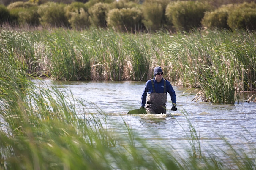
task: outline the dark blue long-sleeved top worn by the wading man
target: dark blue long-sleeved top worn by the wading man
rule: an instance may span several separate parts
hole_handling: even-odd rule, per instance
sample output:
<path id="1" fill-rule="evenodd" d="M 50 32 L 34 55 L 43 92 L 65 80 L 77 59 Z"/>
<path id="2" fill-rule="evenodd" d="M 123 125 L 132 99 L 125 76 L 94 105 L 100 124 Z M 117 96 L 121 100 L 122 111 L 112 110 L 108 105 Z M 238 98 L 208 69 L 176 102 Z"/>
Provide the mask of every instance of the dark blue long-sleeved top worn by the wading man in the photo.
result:
<path id="1" fill-rule="evenodd" d="M 164 79 L 162 78 L 162 80 L 160 82 L 157 82 L 155 77 L 154 77 L 153 82 L 154 82 L 156 93 L 164 93 Z M 151 80 L 148 80 L 146 82 L 145 89 L 143 90 L 143 93 L 142 93 L 142 96 L 141 96 L 141 100 L 142 100 L 141 106 L 143 106 L 143 107 L 145 107 L 145 104 L 146 104 L 147 92 L 148 92 L 148 94 L 154 92 Z M 176 104 L 175 91 L 173 90 L 173 86 L 171 85 L 171 83 L 168 80 L 166 80 L 166 93 L 167 92 L 171 96 L 172 103 Z"/>

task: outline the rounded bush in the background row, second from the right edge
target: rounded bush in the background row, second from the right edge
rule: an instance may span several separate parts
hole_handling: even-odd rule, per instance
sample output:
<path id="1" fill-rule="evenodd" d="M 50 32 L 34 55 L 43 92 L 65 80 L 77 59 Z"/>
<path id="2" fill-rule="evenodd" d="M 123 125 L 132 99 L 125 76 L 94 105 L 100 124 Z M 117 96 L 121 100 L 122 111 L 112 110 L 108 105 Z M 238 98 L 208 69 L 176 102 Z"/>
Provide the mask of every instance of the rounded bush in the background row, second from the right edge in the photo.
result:
<path id="1" fill-rule="evenodd" d="M 230 29 L 230 27 L 227 25 L 227 18 L 233 7 L 234 5 L 229 4 L 222 6 L 213 12 L 207 11 L 203 17 L 202 25 L 209 29 Z"/>

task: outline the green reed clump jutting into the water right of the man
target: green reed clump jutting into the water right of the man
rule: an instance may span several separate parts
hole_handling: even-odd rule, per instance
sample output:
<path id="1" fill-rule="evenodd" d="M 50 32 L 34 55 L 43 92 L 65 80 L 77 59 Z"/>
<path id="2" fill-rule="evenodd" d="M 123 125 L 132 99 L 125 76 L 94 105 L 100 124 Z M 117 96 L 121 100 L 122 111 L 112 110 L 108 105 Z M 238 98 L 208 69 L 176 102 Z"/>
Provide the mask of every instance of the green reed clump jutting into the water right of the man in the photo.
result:
<path id="1" fill-rule="evenodd" d="M 239 90 L 236 90 L 240 88 L 236 60 L 229 61 L 222 57 L 213 62 L 214 65 L 210 67 L 206 65 L 200 68 L 201 74 L 197 75 L 198 86 L 206 101 L 234 104 L 237 96 L 240 95 Z"/>

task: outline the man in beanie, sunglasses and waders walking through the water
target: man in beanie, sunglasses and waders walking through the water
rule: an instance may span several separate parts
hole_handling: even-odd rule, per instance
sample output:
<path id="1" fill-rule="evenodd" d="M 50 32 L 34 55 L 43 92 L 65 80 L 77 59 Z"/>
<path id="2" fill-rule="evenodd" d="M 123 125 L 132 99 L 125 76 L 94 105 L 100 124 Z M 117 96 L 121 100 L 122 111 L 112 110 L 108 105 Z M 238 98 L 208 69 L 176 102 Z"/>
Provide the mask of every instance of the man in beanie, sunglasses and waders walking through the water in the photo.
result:
<path id="1" fill-rule="evenodd" d="M 176 111 L 176 95 L 173 90 L 172 85 L 169 81 L 163 79 L 163 71 L 161 67 L 154 68 L 154 78 L 148 80 L 145 85 L 145 89 L 143 90 L 141 96 L 141 107 L 140 109 L 146 109 L 147 113 L 158 114 L 164 113 L 166 114 L 166 102 L 167 102 L 167 92 L 171 96 L 172 100 L 172 111 Z M 148 95 L 147 95 L 148 92 Z"/>

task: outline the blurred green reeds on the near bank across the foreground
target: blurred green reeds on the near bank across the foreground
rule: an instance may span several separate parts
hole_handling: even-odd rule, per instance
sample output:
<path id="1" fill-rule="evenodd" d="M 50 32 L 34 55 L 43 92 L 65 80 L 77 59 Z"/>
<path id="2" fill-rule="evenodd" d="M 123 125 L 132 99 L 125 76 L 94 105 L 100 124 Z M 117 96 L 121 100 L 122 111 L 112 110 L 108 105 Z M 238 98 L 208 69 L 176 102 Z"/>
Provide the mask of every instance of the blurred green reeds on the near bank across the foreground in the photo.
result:
<path id="1" fill-rule="evenodd" d="M 150 145 L 126 122 L 109 121 L 99 108 L 95 108 L 99 113 L 89 113 L 89 103 L 57 87 L 36 87 L 18 72 L 15 77 L 5 74 L 0 78 L 1 169 L 256 168 L 255 147 L 250 143 L 245 151 L 223 138 L 227 149 L 203 150 L 189 119 L 189 132 L 184 133 L 190 148 L 177 152 L 172 146 Z M 120 135 L 113 127 L 123 127 L 127 133 Z"/>

